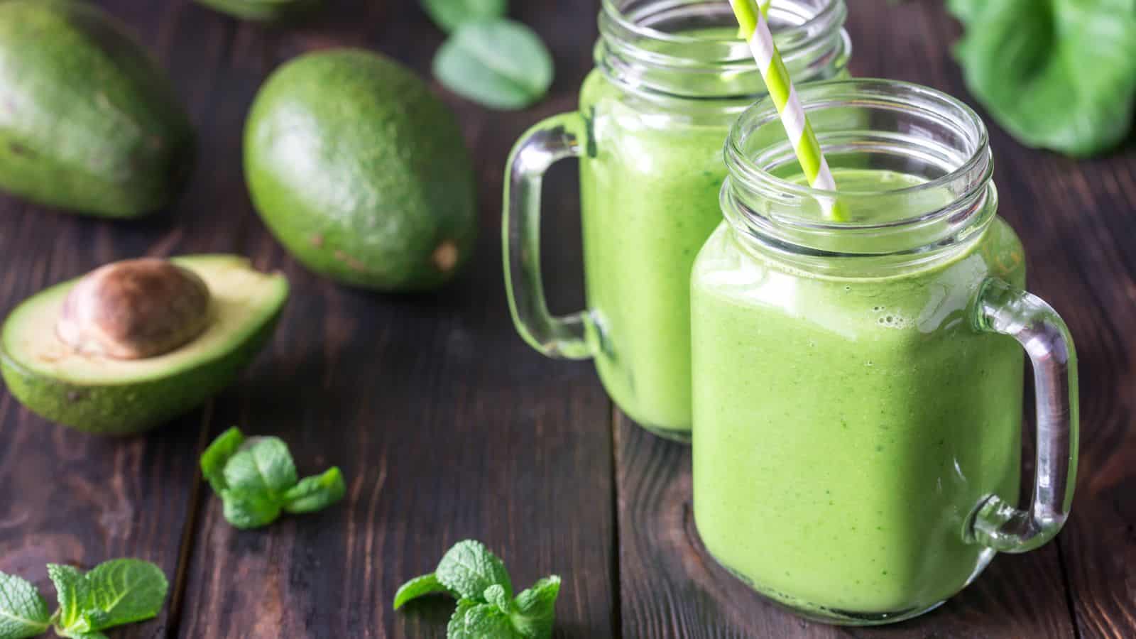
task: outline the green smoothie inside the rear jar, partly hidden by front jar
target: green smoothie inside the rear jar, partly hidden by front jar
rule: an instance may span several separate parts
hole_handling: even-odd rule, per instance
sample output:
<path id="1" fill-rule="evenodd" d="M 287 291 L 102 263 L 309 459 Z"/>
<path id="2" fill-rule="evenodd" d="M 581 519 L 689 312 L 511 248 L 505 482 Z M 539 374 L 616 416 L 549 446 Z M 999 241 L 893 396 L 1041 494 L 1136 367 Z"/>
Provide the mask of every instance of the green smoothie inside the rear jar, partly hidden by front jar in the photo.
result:
<path id="1" fill-rule="evenodd" d="M 688 437 L 691 266 L 721 222 L 733 118 L 644 117 L 599 72 L 580 102 L 596 149 L 580 163 L 587 301 L 603 335 L 595 366 L 633 420 Z"/>

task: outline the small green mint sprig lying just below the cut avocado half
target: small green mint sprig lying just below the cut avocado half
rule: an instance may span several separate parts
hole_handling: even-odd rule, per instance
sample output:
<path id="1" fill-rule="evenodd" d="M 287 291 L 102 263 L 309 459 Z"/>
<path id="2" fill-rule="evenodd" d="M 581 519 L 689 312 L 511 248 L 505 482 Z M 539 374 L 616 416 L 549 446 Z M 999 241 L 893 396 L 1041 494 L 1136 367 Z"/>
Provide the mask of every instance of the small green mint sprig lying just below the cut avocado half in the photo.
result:
<path id="1" fill-rule="evenodd" d="M 282 512 L 323 511 L 346 493 L 337 467 L 299 479 L 283 440 L 245 439 L 236 428 L 222 433 L 201 454 L 201 474 L 222 498 L 225 520 L 239 529 L 268 525 Z"/>

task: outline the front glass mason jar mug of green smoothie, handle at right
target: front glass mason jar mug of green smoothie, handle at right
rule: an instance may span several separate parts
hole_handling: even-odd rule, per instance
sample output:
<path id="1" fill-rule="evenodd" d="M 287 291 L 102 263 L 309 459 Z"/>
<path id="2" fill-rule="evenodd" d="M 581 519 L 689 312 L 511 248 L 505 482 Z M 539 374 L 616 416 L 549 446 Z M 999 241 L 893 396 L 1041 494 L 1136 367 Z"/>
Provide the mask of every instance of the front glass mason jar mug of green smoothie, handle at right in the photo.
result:
<path id="1" fill-rule="evenodd" d="M 838 190 L 807 185 L 761 101 L 730 133 L 726 221 L 694 264 L 694 517 L 710 554 L 767 597 L 887 623 L 1060 530 L 1076 355 L 1022 289 L 972 110 L 889 81 L 800 96 Z M 846 221 L 825 216 L 833 200 Z M 1022 348 L 1037 398 L 1027 509 Z"/>

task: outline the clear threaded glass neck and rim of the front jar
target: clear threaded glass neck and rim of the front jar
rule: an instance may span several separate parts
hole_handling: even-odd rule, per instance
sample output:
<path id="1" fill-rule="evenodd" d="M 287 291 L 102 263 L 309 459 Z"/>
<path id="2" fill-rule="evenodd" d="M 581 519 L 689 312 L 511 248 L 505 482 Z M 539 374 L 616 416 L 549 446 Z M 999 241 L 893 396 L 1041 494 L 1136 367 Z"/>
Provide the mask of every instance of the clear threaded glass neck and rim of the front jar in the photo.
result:
<path id="1" fill-rule="evenodd" d="M 833 191 L 791 181 L 788 172 L 800 174 L 793 146 L 772 100 L 760 100 L 736 119 L 725 144 L 722 214 L 738 236 L 813 268 L 834 267 L 827 262 L 834 258 L 886 258 L 901 266 L 947 255 L 994 219 L 988 133 L 962 101 L 876 78 L 795 91 L 830 166 L 894 172 L 918 183 Z M 825 211 L 833 201 L 855 217 L 832 219 Z"/>

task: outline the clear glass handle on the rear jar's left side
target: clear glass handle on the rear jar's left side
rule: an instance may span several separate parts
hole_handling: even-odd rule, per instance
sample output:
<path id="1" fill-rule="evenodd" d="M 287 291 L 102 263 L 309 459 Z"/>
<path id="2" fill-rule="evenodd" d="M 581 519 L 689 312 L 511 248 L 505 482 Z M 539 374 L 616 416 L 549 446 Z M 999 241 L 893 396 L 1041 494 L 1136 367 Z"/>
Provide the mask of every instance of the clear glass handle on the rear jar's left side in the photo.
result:
<path id="1" fill-rule="evenodd" d="M 557 161 L 583 156 L 586 135 L 578 113 L 552 116 L 517 140 L 506 166 L 501 247 L 509 310 L 529 346 L 563 359 L 592 356 L 594 323 L 586 310 L 561 317 L 549 313 L 541 279 L 541 183 Z"/>

